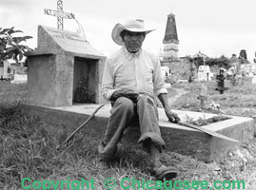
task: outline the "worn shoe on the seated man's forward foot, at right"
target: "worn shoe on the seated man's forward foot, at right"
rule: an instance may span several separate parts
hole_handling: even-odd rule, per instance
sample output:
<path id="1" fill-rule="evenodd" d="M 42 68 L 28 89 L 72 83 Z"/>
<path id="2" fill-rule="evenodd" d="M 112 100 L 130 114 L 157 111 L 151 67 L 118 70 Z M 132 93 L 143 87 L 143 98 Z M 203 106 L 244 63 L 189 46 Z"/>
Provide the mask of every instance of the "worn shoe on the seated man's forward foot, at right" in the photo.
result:
<path id="1" fill-rule="evenodd" d="M 171 180 L 178 175 L 178 171 L 175 167 L 166 166 L 164 164 L 161 164 L 157 168 L 153 168 L 152 173 L 155 176 L 155 180 Z"/>

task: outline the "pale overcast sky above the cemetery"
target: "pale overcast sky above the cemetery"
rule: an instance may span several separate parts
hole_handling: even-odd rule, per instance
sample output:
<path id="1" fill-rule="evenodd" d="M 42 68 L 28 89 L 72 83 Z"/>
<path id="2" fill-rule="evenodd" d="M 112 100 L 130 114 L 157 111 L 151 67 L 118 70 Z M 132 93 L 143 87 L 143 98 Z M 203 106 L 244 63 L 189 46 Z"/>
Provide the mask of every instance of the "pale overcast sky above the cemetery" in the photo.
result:
<path id="1" fill-rule="evenodd" d="M 57 28 L 57 18 L 44 14 L 56 10 L 57 0 L 0 0 L 0 28 L 15 27 L 33 38 L 27 45 L 37 47 L 38 25 Z M 112 28 L 128 19 L 145 20 L 155 28 L 144 47 L 159 54 L 167 25 L 167 15 L 175 15 L 179 56 L 201 51 L 209 57 L 237 56 L 246 49 L 252 62 L 256 51 L 255 0 L 63 0 L 63 9 L 72 12 L 83 27 L 92 47 L 106 56 L 120 47 L 111 39 Z M 77 31 L 74 19 L 64 20 L 64 29 Z"/>

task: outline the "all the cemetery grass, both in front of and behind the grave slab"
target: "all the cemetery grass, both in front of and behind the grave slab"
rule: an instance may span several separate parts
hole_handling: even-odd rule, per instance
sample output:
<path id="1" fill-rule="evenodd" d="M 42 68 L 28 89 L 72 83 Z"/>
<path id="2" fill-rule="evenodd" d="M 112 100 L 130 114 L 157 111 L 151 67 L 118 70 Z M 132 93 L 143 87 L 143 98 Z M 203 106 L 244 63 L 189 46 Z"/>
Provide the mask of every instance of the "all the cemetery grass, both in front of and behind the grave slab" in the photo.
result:
<path id="1" fill-rule="evenodd" d="M 224 95 L 209 88 L 208 102 L 221 104 L 224 112 L 231 115 L 255 115 L 255 86 L 242 85 L 229 88 Z M 197 84 L 174 85 L 183 88 L 182 95 L 172 106 L 180 109 L 196 109 Z M 49 125 L 29 115 L 24 115 L 20 103 L 25 100 L 27 85 L 0 83 L 0 189 L 22 189 L 21 180 L 95 180 L 96 189 L 105 189 L 103 181 L 114 178 L 120 184 L 123 178 L 153 180 L 148 172 L 148 155 L 141 148 L 128 147 L 120 143 L 116 161 L 111 170 L 100 171 L 97 165 L 97 144 L 79 132 L 69 146 L 57 150 L 70 134 L 69 128 L 62 125 Z M 173 94 L 176 93 L 173 91 Z M 251 100 L 250 100 L 251 99 Z M 237 102 L 237 104 L 234 103 Z M 245 102 L 245 104 L 244 104 Z M 230 104 L 228 104 L 230 103 Z M 236 105 L 236 106 L 235 106 Z M 243 113 L 240 111 L 244 110 Z M 194 158 L 163 153 L 162 161 L 175 165 L 180 175 L 175 180 L 246 180 L 246 189 L 256 186 L 256 142 L 246 142 L 230 151 L 223 161 L 205 163 Z M 114 188 L 120 189 L 120 188 Z"/>

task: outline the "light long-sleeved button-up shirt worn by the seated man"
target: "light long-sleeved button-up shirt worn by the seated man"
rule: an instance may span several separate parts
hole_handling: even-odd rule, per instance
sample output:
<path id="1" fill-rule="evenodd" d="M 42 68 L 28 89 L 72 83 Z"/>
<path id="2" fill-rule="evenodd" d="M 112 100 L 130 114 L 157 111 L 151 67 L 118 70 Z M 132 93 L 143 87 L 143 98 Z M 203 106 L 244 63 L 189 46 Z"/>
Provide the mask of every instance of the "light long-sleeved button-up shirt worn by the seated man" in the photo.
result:
<path id="1" fill-rule="evenodd" d="M 130 53 L 126 47 L 109 57 L 103 72 L 102 94 L 109 101 L 112 93 L 120 89 L 151 96 L 167 93 L 158 58 L 144 49 Z"/>

